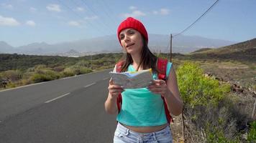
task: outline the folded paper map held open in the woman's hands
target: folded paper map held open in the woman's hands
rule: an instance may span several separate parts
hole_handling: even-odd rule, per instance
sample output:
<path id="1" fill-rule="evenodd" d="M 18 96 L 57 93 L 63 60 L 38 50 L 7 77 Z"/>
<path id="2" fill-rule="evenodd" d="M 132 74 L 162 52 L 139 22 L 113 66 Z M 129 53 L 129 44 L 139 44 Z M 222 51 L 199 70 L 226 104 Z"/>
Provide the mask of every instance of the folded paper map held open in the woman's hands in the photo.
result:
<path id="1" fill-rule="evenodd" d="M 114 84 L 123 86 L 124 89 L 144 88 L 153 80 L 152 69 L 119 73 L 111 71 L 109 74 Z"/>

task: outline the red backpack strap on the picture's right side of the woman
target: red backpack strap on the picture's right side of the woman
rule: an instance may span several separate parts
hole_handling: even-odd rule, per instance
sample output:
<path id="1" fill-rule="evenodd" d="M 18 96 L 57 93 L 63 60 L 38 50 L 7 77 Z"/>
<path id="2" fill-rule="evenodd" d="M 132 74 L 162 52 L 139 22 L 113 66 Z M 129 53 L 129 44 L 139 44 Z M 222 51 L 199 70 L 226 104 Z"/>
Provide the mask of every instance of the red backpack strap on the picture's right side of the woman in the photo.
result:
<path id="1" fill-rule="evenodd" d="M 158 79 L 162 79 L 165 82 L 167 80 L 167 78 L 166 78 L 167 64 L 168 64 L 167 59 L 161 59 L 161 58 L 157 59 L 157 69 L 159 70 Z M 173 118 L 170 116 L 170 112 L 169 112 L 168 106 L 165 102 L 165 98 L 162 97 L 162 99 L 163 99 L 163 102 L 164 102 L 164 105 L 165 105 L 165 116 L 166 116 L 166 119 L 167 119 L 168 123 L 170 124 L 170 122 L 173 122 Z"/>

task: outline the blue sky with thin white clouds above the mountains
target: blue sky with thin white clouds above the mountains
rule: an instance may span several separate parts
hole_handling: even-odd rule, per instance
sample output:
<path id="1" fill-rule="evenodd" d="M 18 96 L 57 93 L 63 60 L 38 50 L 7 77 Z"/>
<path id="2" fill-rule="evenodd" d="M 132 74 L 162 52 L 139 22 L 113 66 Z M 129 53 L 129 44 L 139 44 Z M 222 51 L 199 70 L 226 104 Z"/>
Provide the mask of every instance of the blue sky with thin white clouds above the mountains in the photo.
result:
<path id="1" fill-rule="evenodd" d="M 127 16 L 150 34 L 177 34 L 215 0 L 0 0 L 0 41 L 22 46 L 45 41 L 90 39 L 116 34 Z M 185 35 L 246 41 L 256 37 L 256 1 L 220 0 Z"/>

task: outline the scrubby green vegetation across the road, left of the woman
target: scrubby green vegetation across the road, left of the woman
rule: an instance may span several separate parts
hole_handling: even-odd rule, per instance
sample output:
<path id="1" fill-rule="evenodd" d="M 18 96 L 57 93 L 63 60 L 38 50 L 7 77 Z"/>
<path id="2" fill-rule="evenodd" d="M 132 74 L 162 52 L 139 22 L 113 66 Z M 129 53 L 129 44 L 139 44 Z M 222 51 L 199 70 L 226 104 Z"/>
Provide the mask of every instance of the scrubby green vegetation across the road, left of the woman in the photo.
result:
<path id="1" fill-rule="evenodd" d="M 97 54 L 74 58 L 0 54 L 0 89 L 110 69 L 121 56 L 122 54 Z"/>

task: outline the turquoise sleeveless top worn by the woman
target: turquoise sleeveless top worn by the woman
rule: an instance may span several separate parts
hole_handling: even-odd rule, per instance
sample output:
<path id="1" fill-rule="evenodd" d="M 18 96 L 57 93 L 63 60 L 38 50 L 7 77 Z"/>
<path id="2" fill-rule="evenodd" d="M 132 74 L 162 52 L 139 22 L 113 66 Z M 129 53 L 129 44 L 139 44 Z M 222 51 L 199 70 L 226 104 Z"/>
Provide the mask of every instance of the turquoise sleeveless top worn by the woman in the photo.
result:
<path id="1" fill-rule="evenodd" d="M 170 73 L 172 63 L 168 62 L 166 77 Z M 127 71 L 135 71 L 132 65 Z M 158 79 L 157 74 L 152 75 Z M 134 127 L 158 126 L 167 123 L 165 107 L 160 94 L 153 94 L 147 88 L 125 89 L 122 92 L 122 108 L 116 117 L 122 124 Z"/>

